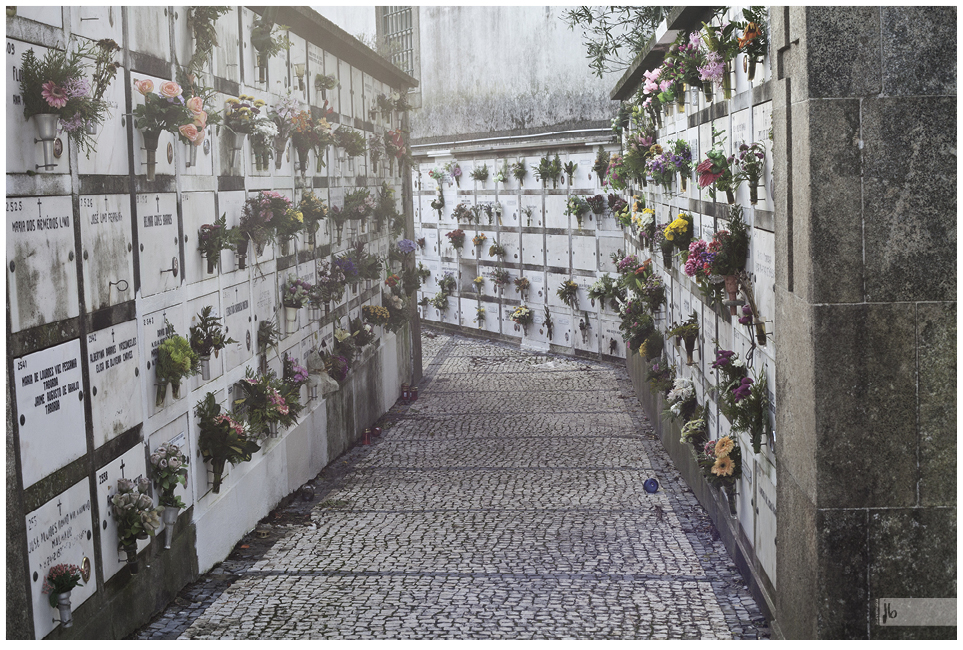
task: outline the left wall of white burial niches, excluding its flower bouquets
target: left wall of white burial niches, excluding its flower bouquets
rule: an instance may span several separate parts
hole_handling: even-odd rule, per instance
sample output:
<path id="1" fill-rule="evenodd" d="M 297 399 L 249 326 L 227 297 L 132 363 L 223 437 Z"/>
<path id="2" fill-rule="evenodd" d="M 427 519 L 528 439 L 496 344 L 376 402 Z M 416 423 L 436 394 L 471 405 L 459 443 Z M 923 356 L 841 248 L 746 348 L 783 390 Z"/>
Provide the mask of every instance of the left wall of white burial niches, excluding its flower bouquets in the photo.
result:
<path id="1" fill-rule="evenodd" d="M 226 467 L 219 494 L 211 489 L 209 465 L 198 448 L 194 407 L 210 392 L 225 410 L 248 368 L 262 364 L 282 372 L 282 357 L 302 365 L 322 341 L 331 349 L 336 326 L 380 305 L 382 283 L 363 281 L 309 319 L 299 312 L 293 327 L 279 323 L 279 292 L 287 276 L 313 283 L 317 262 L 330 261 L 356 241 L 387 257 L 395 239 L 388 228 L 357 221 L 336 241 L 325 225 L 317 246 L 304 237 L 290 253 L 267 246 L 250 251 L 242 269 L 230 252 L 207 270 L 197 248 L 199 228 L 226 215 L 238 224 L 244 201 L 259 190 L 276 190 L 295 203 L 312 190 L 340 206 L 356 187 L 377 192 L 391 187 L 396 208 L 411 233 L 411 190 L 400 170 L 375 171 L 365 156 L 340 159 L 333 148 L 309 153 L 298 169 L 290 143 L 267 168 L 255 164 L 250 141 L 237 156 L 226 133 L 208 129 L 204 146 L 190 162 L 190 148 L 161 135 L 156 178 L 145 175 L 142 134 L 131 128 L 140 100 L 135 79 L 155 89 L 187 61 L 194 40 L 186 7 L 17 7 L 7 18 L 7 630 L 9 638 L 123 638 L 147 622 L 189 580 L 222 560 L 281 499 L 299 488 L 358 439 L 411 381 L 416 367 L 411 327 L 395 334 L 378 328 L 376 342 L 353 366 L 349 380 L 327 398 L 309 399 L 297 424 L 278 438 L 261 439 L 253 459 Z M 302 110 L 320 116 L 324 94 L 315 74 L 332 74 L 340 87 L 327 93 L 335 112 L 327 119 L 348 124 L 367 138 L 398 127 L 398 114 L 372 115 L 378 94 L 403 90 L 415 80 L 387 65 L 310 10 L 282 8 L 278 23 L 292 26 L 291 48 L 270 59 L 259 80 L 251 44 L 256 14 L 236 7 L 217 23 L 219 47 L 203 82 L 216 90 L 206 107 L 221 111 L 227 97 L 247 94 L 273 106 L 288 90 Z M 113 110 L 95 137 L 90 158 L 59 134 L 56 167 L 43 162 L 33 121 L 23 117 L 20 65 L 25 51 L 41 56 L 77 38 L 112 38 L 123 65 L 105 96 Z M 294 73 L 306 66 L 302 90 Z M 253 246 L 251 247 L 253 249 Z M 395 263 L 394 270 L 397 271 Z M 174 273 L 174 269 L 177 270 Z M 195 376 L 155 402 L 156 345 L 164 323 L 187 337 L 205 306 L 223 317 L 229 344 L 211 360 L 210 379 Z M 276 348 L 259 354 L 256 337 L 265 320 L 281 325 Z M 420 363 L 417 364 L 420 367 Z M 149 476 L 148 457 L 176 441 L 189 456 L 186 503 L 173 530 L 138 543 L 139 573 L 118 556 L 117 525 L 109 497 L 117 479 Z M 157 502 L 158 495 L 154 494 Z M 171 549 L 164 538 L 173 536 Z M 53 622 L 56 610 L 41 594 L 43 578 L 58 563 L 89 560 L 91 574 L 71 593 L 75 624 Z"/>

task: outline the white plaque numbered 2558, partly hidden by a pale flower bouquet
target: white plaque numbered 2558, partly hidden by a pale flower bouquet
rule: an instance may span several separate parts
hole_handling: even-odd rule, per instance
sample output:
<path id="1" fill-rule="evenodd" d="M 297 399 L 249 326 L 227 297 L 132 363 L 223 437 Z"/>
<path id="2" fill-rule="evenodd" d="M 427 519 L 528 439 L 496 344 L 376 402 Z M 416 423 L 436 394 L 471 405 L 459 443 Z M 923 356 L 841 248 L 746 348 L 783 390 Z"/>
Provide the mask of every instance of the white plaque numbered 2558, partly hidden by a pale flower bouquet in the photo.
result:
<path id="1" fill-rule="evenodd" d="M 186 417 L 185 414 L 183 419 Z M 97 506 L 100 510 L 100 552 L 104 566 L 104 580 L 109 580 L 126 565 L 126 555 L 119 548 L 117 518 L 110 505 L 110 498 L 117 494 L 118 479 L 136 481 L 142 476 L 150 478 L 144 452 L 144 444 L 138 443 L 121 454 L 119 458 L 97 469 Z M 156 486 L 152 487 L 152 491 L 156 505 Z M 143 551 L 148 544 L 150 539 L 137 540 L 137 552 Z"/>

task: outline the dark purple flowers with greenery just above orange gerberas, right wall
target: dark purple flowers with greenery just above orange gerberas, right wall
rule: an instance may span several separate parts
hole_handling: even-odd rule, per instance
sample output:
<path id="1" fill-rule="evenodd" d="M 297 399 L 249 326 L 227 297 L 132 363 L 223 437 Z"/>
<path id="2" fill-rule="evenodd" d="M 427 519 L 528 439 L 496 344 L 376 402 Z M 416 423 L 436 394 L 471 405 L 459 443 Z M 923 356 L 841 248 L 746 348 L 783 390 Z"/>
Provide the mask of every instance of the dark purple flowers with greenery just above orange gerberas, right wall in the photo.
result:
<path id="1" fill-rule="evenodd" d="M 749 376 L 745 362 L 731 350 L 716 352 L 712 368 L 719 371 L 719 410 L 732 430 L 745 431 L 752 450 L 759 453 L 762 436 L 769 432 L 769 396 L 766 374 Z"/>

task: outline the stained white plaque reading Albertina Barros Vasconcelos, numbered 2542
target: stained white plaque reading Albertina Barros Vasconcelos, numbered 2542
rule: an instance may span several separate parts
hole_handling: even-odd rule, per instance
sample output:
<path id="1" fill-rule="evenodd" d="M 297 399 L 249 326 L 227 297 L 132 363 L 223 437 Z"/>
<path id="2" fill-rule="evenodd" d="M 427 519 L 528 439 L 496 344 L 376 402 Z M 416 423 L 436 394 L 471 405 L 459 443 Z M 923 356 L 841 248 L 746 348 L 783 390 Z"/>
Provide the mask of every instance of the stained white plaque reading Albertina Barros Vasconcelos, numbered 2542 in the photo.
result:
<path id="1" fill-rule="evenodd" d="M 137 321 L 119 323 L 87 335 L 94 447 L 143 420 Z"/>

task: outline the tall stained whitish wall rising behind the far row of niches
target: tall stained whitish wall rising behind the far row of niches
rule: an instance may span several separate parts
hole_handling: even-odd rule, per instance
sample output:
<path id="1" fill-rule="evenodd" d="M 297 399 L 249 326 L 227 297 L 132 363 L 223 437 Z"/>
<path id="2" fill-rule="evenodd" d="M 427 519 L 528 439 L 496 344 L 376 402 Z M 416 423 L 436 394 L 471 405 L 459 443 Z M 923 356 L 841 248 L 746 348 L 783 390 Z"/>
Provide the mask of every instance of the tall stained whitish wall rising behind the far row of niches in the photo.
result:
<path id="1" fill-rule="evenodd" d="M 421 108 L 412 139 L 518 136 L 608 124 L 614 82 L 592 75 L 563 7 L 421 7 Z"/>

